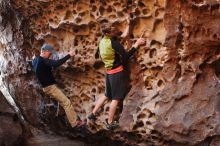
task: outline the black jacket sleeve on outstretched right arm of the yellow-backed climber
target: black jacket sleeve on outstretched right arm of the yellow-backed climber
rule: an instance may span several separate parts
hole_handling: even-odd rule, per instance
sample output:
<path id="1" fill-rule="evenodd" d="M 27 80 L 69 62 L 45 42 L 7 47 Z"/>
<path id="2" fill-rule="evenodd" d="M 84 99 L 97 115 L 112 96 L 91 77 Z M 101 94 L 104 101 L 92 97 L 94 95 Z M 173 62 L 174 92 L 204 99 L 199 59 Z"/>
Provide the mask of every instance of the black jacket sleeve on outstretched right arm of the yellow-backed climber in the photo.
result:
<path id="1" fill-rule="evenodd" d="M 112 48 L 118 53 L 123 61 L 127 61 L 134 53 L 136 52 L 136 48 L 132 47 L 128 52 L 124 49 L 124 47 L 116 40 L 111 39 Z"/>

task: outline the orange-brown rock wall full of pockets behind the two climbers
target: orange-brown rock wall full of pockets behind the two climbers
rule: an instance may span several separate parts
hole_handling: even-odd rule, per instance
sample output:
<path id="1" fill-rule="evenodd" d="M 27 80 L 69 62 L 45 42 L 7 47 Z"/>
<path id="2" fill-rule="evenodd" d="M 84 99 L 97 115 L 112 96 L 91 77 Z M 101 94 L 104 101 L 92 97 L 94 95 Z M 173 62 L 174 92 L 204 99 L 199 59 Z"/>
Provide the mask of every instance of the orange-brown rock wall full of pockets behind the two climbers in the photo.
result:
<path id="1" fill-rule="evenodd" d="M 44 42 L 52 44 L 60 57 L 77 50 L 56 77 L 85 119 L 105 89 L 105 69 L 95 53 L 100 25 L 108 20 L 120 29 L 125 48 L 141 36 L 149 41 L 130 60 L 130 92 L 116 117 L 120 128 L 105 130 L 107 103 L 96 123 L 88 121 L 89 134 L 79 135 L 89 142 L 107 137 L 129 145 L 218 145 L 219 4 L 218 0 L 0 0 L 1 78 L 27 121 L 67 134 L 63 116 L 56 118 L 56 109 L 45 106 L 48 98 L 28 60 Z"/>

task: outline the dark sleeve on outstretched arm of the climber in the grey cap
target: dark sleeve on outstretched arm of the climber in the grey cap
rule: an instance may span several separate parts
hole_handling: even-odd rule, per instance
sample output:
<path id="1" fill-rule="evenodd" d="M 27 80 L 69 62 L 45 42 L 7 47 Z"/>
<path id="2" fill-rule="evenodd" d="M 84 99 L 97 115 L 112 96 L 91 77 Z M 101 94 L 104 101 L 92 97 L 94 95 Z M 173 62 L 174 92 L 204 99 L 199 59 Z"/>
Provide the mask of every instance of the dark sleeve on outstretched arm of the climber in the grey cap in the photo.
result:
<path id="1" fill-rule="evenodd" d="M 71 56 L 68 54 L 59 60 L 44 59 L 44 61 L 47 66 L 58 67 L 58 66 L 64 64 L 70 57 Z"/>

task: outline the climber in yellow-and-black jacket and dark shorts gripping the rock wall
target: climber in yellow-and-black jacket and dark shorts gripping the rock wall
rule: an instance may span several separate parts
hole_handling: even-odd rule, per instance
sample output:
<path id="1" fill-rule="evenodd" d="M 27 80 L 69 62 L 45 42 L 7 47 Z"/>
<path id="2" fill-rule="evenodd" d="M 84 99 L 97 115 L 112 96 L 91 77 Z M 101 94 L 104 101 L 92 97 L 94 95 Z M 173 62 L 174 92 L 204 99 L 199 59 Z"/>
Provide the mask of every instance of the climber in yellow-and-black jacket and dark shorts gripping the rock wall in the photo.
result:
<path id="1" fill-rule="evenodd" d="M 106 89 L 105 96 L 99 98 L 92 113 L 88 119 L 95 120 L 96 112 L 104 104 L 106 100 L 112 100 L 109 109 L 107 129 L 115 129 L 119 126 L 117 121 L 114 121 L 114 114 L 120 101 L 126 95 L 126 79 L 124 74 L 124 64 L 136 52 L 137 48 L 145 43 L 143 38 L 139 38 L 133 47 L 126 52 L 124 47 L 115 39 L 119 34 L 116 27 L 111 24 L 105 24 L 102 27 L 104 37 L 99 42 L 99 54 L 106 68 Z"/>

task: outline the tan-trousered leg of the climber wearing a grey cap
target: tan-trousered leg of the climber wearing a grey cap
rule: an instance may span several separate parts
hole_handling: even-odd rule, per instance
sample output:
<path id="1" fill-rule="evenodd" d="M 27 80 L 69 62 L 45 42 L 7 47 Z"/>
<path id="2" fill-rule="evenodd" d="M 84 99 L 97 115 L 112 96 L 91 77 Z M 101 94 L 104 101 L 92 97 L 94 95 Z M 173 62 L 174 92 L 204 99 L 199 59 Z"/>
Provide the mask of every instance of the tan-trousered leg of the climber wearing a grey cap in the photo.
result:
<path id="1" fill-rule="evenodd" d="M 57 100 L 60 105 L 64 108 L 68 121 L 72 127 L 77 125 L 77 116 L 71 104 L 71 101 L 63 94 L 63 92 L 56 87 L 56 85 L 51 85 L 44 88 L 44 92 L 51 95 L 52 98 Z"/>

